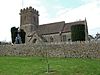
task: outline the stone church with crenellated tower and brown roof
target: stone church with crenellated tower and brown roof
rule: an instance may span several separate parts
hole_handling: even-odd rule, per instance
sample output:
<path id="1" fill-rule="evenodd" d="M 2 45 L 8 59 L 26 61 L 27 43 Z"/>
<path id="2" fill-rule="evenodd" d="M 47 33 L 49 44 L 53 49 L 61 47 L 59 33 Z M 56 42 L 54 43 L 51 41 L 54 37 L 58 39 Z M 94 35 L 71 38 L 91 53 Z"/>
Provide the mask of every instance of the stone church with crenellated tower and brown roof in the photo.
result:
<path id="1" fill-rule="evenodd" d="M 85 25 L 85 40 L 88 40 L 87 21 L 65 21 L 39 25 L 39 12 L 27 7 L 20 10 L 20 29 L 26 32 L 25 43 L 71 41 L 71 26 Z"/>

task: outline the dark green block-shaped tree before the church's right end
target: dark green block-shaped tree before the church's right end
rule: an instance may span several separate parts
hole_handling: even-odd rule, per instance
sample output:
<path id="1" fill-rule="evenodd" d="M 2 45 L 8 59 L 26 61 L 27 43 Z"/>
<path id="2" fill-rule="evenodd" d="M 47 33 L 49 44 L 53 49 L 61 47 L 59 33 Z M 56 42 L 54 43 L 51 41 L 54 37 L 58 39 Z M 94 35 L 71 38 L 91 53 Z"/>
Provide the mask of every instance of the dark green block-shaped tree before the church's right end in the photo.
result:
<path id="1" fill-rule="evenodd" d="M 72 41 L 85 41 L 85 25 L 71 26 Z"/>

